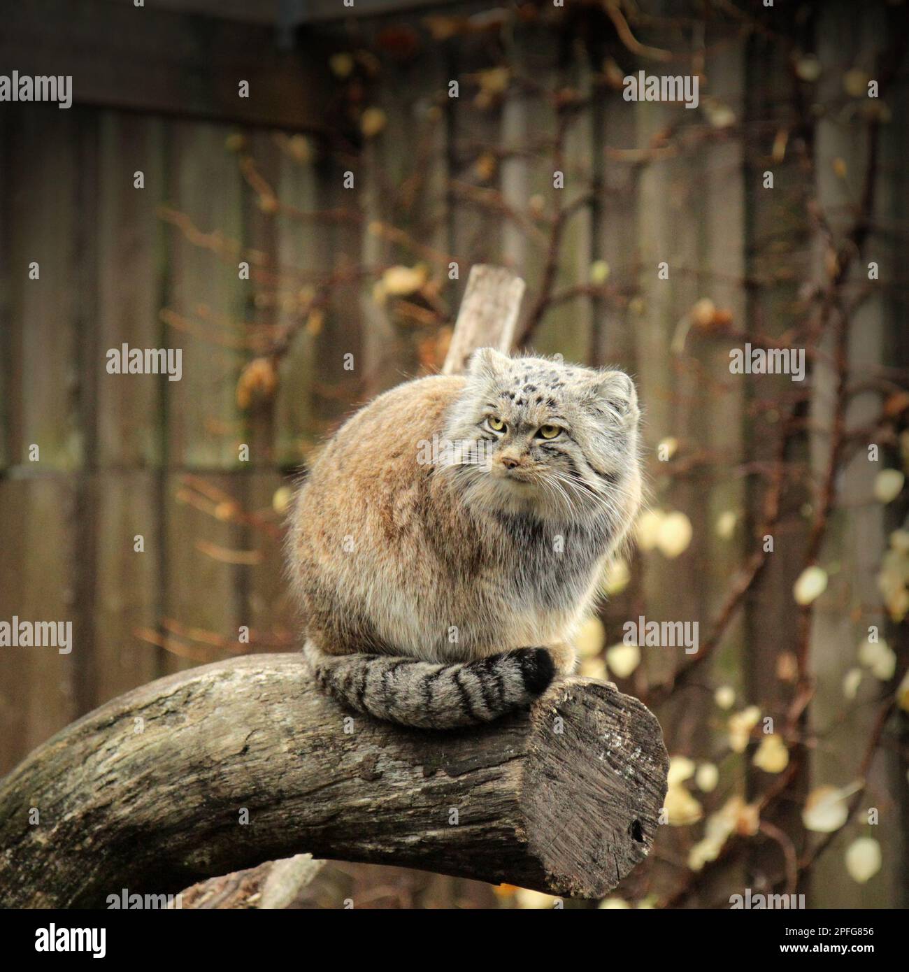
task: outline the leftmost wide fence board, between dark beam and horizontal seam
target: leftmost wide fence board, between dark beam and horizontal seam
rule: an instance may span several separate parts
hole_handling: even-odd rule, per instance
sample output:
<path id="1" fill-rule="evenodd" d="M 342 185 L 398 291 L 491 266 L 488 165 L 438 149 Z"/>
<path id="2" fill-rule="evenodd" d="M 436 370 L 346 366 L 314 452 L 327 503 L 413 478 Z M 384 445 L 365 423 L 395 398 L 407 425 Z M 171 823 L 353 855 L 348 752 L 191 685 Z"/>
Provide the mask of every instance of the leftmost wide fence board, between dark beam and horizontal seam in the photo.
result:
<path id="1" fill-rule="evenodd" d="M 9 383 L 11 462 L 28 462 L 34 443 L 42 469 L 75 469 L 83 438 L 76 402 L 77 111 L 18 110 L 12 152 L 10 273 L 14 363 Z M 83 119 L 84 121 L 84 119 Z M 38 264 L 38 280 L 29 264 Z"/>

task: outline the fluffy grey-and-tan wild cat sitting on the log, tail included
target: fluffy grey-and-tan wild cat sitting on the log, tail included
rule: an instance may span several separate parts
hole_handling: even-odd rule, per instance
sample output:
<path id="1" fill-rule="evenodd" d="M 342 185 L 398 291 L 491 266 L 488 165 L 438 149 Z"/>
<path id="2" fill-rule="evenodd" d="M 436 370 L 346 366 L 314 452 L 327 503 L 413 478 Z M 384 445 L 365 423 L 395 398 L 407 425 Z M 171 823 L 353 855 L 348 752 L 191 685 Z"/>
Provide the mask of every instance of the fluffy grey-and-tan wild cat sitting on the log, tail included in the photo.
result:
<path id="1" fill-rule="evenodd" d="M 358 712 L 450 728 L 527 706 L 571 646 L 641 503 L 622 371 L 475 352 L 464 376 L 373 399 L 291 513 L 318 684 Z"/>

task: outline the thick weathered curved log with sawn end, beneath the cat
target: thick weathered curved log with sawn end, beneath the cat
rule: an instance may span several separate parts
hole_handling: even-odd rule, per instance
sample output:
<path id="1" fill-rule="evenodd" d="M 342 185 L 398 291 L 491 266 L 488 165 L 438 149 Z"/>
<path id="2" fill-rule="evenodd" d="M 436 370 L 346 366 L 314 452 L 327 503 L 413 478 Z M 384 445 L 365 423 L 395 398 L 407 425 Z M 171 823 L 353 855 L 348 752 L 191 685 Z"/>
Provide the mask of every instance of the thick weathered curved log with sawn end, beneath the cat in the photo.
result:
<path id="1" fill-rule="evenodd" d="M 90 712 L 0 782 L 0 906 L 103 906 L 304 851 L 598 897 L 647 855 L 666 771 L 656 719 L 606 682 L 430 732 L 351 716 L 297 654 L 234 658 Z"/>

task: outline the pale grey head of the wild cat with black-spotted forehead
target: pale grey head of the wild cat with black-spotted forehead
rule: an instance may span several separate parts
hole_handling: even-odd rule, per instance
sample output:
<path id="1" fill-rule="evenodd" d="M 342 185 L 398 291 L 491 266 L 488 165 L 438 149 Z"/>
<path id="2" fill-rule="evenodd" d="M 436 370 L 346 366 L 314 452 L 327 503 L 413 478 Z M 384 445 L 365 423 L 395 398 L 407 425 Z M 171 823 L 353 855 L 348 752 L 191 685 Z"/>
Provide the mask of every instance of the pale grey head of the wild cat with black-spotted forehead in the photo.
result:
<path id="1" fill-rule="evenodd" d="M 476 351 L 446 417 L 472 503 L 576 519 L 640 502 L 638 396 L 623 371 Z"/>

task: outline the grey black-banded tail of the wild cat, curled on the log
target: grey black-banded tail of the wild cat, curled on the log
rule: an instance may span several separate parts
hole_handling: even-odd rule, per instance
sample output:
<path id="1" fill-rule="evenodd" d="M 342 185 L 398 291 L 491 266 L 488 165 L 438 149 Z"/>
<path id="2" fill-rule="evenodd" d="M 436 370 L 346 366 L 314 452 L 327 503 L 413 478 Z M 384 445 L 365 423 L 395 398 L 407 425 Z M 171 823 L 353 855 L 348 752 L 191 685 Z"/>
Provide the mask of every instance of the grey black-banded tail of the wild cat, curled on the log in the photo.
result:
<path id="1" fill-rule="evenodd" d="M 320 688 L 338 702 L 424 729 L 477 725 L 525 708 L 555 674 L 545 648 L 518 648 L 451 665 L 391 655 L 330 655 L 312 642 L 303 653 Z"/>

